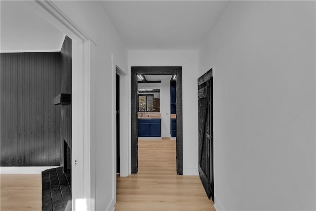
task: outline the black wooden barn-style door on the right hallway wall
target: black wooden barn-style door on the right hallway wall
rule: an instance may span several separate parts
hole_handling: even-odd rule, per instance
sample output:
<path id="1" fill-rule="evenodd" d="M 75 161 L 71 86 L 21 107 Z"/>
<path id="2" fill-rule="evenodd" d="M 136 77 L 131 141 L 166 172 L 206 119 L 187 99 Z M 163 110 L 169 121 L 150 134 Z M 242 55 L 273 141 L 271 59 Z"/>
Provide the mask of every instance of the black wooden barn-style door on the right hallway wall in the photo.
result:
<path id="1" fill-rule="evenodd" d="M 208 198 L 214 202 L 213 77 L 212 69 L 198 78 L 198 173 Z"/>

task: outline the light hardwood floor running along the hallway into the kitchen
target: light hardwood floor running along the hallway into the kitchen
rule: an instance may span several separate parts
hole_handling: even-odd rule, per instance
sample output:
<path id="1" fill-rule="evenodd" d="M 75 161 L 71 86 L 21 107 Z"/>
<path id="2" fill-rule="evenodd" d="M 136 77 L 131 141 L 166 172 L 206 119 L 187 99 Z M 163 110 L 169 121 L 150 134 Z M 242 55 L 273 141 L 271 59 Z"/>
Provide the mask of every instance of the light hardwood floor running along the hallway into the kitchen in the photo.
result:
<path id="1" fill-rule="evenodd" d="M 215 211 L 198 176 L 176 174 L 176 141 L 139 140 L 138 174 L 117 177 L 116 211 Z"/>

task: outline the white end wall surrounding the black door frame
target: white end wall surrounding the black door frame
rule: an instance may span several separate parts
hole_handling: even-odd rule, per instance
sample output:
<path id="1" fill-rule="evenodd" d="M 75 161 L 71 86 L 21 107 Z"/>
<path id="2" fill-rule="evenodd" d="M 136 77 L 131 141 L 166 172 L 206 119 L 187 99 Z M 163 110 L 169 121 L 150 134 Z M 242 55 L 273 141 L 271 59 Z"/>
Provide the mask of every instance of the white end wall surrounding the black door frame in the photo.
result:
<path id="1" fill-rule="evenodd" d="M 129 77 L 131 66 L 182 66 L 183 174 L 197 175 L 197 50 L 129 50 L 128 61 Z"/>

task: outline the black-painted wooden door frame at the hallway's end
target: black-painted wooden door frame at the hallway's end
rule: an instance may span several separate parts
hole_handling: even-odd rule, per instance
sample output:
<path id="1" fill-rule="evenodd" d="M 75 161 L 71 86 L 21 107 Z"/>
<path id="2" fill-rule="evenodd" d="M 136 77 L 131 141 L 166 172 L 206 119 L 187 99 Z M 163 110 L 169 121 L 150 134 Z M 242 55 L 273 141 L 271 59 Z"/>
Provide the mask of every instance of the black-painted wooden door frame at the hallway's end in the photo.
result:
<path id="1" fill-rule="evenodd" d="M 183 174 L 183 133 L 182 133 L 182 67 L 131 67 L 131 157 L 132 174 L 138 171 L 138 124 L 137 124 L 137 75 L 177 75 L 176 81 L 176 115 L 177 140 L 176 164 L 177 174 Z"/>

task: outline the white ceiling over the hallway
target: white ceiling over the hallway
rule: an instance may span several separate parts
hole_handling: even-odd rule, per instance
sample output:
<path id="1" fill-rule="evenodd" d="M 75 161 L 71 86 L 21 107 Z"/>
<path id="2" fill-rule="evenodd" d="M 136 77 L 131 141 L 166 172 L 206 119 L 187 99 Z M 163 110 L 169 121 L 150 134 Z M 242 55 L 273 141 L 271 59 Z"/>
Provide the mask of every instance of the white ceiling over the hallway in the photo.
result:
<path id="1" fill-rule="evenodd" d="M 102 1 L 129 49 L 197 49 L 229 1 Z"/>

